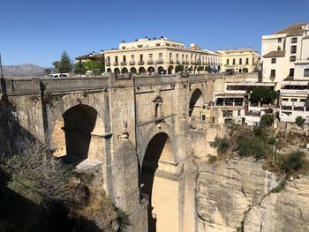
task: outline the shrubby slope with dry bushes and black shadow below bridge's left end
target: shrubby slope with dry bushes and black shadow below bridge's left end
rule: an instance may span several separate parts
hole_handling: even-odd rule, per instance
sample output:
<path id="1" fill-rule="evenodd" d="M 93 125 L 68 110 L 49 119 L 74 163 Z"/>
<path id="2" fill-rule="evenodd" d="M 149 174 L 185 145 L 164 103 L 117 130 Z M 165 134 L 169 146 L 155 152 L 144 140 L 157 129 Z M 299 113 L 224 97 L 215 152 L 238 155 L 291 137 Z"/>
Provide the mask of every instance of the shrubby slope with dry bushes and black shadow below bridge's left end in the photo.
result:
<path id="1" fill-rule="evenodd" d="M 92 173 L 74 173 L 41 143 L 0 161 L 1 231 L 123 231 L 130 221 Z"/>

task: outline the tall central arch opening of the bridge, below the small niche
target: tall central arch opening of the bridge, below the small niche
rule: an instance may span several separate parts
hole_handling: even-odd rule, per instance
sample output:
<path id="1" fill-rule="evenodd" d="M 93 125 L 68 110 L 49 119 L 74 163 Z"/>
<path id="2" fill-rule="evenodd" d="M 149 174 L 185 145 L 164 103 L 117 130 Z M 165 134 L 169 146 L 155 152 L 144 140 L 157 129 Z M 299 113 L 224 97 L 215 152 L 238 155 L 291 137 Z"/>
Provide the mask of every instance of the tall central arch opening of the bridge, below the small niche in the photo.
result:
<path id="1" fill-rule="evenodd" d="M 173 164 L 170 137 L 157 133 L 148 143 L 140 172 L 141 193 L 147 194 L 148 231 L 178 231 L 178 183 L 167 171 Z M 165 176 L 164 176 L 165 175 Z"/>

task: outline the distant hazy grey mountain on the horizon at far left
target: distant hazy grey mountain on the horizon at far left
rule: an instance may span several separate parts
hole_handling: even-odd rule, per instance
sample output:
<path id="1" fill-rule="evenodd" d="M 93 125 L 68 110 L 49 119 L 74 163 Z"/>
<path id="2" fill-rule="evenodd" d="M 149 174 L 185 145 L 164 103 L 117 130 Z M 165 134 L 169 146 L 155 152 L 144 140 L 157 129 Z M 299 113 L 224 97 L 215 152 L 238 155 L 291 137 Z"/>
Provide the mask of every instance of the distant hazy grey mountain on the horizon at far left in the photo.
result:
<path id="1" fill-rule="evenodd" d="M 34 64 L 20 64 L 3 66 L 4 77 L 21 77 L 21 76 L 36 76 L 43 75 L 44 68 Z"/>

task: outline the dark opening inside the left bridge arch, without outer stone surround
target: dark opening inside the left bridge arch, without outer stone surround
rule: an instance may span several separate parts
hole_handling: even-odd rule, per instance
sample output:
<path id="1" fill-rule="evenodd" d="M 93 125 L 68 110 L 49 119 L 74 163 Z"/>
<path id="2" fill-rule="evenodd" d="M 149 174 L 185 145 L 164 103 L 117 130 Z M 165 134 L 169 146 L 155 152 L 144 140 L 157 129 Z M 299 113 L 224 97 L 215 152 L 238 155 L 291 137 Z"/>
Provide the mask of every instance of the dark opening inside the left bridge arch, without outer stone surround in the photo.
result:
<path id="1" fill-rule="evenodd" d="M 91 133 L 97 120 L 97 111 L 87 105 L 77 105 L 64 112 L 55 125 L 52 143 L 54 153 L 64 162 L 78 165 L 89 158 Z"/>

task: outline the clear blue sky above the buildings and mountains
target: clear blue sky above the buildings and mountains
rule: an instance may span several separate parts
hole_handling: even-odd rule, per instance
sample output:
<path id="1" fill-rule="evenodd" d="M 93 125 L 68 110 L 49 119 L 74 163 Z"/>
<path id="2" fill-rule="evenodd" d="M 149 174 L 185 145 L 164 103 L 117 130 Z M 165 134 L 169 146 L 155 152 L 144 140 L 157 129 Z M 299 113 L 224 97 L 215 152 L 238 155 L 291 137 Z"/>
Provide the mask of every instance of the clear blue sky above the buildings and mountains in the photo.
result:
<path id="1" fill-rule="evenodd" d="M 1 0 L 4 65 L 52 66 L 69 56 L 162 35 L 203 49 L 251 47 L 260 37 L 309 22 L 309 0 Z"/>

